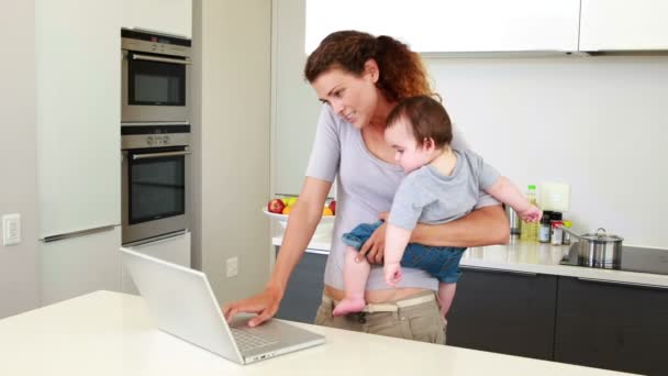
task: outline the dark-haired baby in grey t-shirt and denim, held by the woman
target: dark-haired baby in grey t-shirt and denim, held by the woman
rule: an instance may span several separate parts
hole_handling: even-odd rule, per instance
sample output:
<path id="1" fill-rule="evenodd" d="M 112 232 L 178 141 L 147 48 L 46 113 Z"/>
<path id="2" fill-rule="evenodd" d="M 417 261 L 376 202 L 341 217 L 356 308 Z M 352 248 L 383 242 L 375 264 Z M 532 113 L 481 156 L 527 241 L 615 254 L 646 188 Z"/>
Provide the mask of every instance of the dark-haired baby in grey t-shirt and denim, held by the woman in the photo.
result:
<path id="1" fill-rule="evenodd" d="M 389 114 L 386 142 L 407 176 L 401 181 L 388 217 L 385 243 L 385 280 L 396 287 L 401 266 L 426 270 L 436 277 L 441 313 L 445 319 L 459 279 L 459 262 L 466 248 L 410 243 L 420 223 L 454 221 L 474 210 L 480 190 L 511 206 L 525 221 L 537 222 L 543 212 L 482 158 L 470 151 L 450 148 L 449 117 L 441 103 L 420 96 L 402 100 Z M 348 245 L 344 265 L 345 298 L 334 316 L 359 312 L 366 306 L 364 291 L 370 272 L 366 259 L 355 258 L 361 245 L 382 224 L 363 223 L 343 235 Z"/>

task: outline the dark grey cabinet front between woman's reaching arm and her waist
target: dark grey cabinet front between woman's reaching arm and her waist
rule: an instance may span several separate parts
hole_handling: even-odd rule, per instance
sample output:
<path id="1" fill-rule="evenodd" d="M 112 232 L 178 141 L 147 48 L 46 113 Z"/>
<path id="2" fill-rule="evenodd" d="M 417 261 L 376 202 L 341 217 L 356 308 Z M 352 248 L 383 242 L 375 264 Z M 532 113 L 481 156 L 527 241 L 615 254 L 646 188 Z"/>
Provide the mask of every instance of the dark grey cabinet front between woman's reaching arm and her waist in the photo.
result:
<path id="1" fill-rule="evenodd" d="M 322 301 L 326 262 L 326 254 L 307 250 L 290 276 L 277 318 L 313 323 Z"/>

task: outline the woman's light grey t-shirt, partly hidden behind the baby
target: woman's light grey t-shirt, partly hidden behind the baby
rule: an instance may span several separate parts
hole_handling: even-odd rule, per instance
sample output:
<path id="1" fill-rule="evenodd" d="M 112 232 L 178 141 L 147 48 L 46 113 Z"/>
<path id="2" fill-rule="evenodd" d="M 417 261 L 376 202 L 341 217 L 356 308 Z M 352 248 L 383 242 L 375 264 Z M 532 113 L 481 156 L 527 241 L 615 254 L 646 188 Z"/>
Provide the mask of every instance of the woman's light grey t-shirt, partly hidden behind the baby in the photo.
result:
<path id="1" fill-rule="evenodd" d="M 452 146 L 467 148 L 457 129 L 454 130 Z M 404 173 L 400 166 L 374 156 L 366 147 L 360 131 L 337 117 L 330 106 L 323 104 L 307 176 L 326 181 L 336 178 L 336 220 L 325 267 L 325 284 L 343 290 L 346 245 L 341 236 L 359 223 L 376 222 L 380 212 L 390 211 Z M 476 208 L 498 203 L 491 196 L 481 193 Z M 437 290 L 438 281 L 424 270 L 404 268 L 399 287 Z M 382 267 L 374 265 L 367 290 L 387 288 Z"/>

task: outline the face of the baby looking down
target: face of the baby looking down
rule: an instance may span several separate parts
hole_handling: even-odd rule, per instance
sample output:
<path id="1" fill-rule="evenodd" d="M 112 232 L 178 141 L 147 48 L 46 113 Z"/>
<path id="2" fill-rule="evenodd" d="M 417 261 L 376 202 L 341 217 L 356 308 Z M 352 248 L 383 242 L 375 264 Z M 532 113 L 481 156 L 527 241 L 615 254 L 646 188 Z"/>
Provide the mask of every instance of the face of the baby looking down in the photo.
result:
<path id="1" fill-rule="evenodd" d="M 394 161 L 408 174 L 430 163 L 430 153 L 413 137 L 409 123 L 399 119 L 385 130 L 385 141 L 394 150 Z"/>

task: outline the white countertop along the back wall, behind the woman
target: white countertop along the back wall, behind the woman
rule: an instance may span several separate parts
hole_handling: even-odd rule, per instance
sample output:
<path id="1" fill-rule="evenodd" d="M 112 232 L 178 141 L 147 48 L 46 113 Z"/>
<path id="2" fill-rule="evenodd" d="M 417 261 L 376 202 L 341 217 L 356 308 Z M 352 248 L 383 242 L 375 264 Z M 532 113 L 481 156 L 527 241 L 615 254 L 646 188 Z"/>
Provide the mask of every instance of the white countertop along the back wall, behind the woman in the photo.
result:
<path id="1" fill-rule="evenodd" d="M 271 243 L 279 246 L 282 236 L 274 236 Z M 314 237 L 309 251 L 329 253 L 331 237 Z M 599 269 L 582 266 L 559 265 L 568 245 L 515 242 L 508 245 L 474 247 L 466 251 L 463 266 L 490 268 L 530 274 L 550 274 L 565 277 L 608 280 L 619 284 L 668 288 L 668 275 L 625 270 Z"/>

